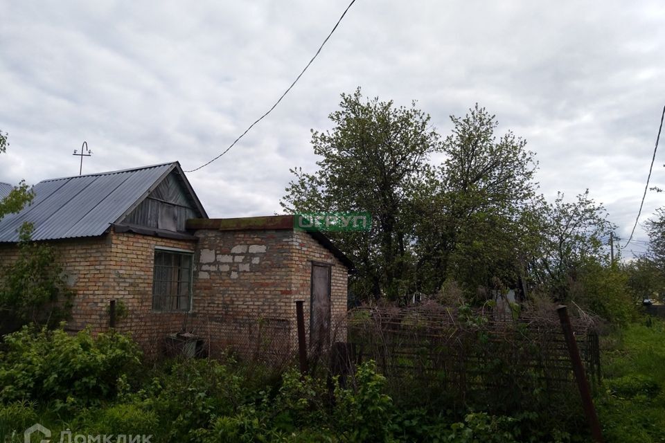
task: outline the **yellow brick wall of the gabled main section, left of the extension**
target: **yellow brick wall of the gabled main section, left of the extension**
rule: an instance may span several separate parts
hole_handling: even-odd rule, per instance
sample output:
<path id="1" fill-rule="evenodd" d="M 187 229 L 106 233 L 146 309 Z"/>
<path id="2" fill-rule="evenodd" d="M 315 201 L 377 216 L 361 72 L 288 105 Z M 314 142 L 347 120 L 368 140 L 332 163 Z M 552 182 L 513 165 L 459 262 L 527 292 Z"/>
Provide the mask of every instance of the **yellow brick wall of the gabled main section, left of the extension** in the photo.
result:
<path id="1" fill-rule="evenodd" d="M 180 330 L 184 314 L 151 312 L 154 248 L 194 252 L 195 241 L 109 232 L 100 237 L 46 243 L 55 248 L 57 262 L 76 291 L 68 329 L 107 330 L 109 302 L 118 300 L 127 308 L 127 317 L 118 319 L 116 329 L 132 332 L 139 341 Z M 0 244 L 0 266 L 15 260 L 17 254 L 15 244 Z"/>

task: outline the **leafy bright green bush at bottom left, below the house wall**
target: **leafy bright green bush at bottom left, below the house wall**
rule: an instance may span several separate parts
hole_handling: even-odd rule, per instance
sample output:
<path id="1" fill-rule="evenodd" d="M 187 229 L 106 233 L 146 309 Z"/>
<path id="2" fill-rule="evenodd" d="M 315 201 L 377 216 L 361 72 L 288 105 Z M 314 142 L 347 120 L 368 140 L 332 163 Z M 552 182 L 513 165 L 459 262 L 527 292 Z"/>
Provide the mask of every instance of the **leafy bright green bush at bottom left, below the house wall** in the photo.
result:
<path id="1" fill-rule="evenodd" d="M 4 337 L 0 400 L 51 401 L 55 408 L 99 404 L 116 394 L 118 377 L 139 369 L 141 352 L 122 334 L 69 335 L 24 327 Z"/>

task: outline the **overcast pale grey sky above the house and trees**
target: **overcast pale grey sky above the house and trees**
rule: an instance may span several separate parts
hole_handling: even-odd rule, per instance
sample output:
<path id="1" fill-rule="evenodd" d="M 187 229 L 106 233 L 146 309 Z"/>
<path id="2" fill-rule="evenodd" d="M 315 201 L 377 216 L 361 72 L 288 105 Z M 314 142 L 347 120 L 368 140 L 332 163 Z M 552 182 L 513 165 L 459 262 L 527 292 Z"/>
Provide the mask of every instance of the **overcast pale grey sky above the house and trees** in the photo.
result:
<path id="1" fill-rule="evenodd" d="M 347 5 L 3 1 L 0 181 L 76 175 L 84 140 L 84 174 L 196 168 L 272 105 Z M 418 100 L 444 136 L 479 102 L 536 152 L 544 195 L 589 188 L 627 238 L 665 105 L 663 24 L 662 1 L 357 0 L 273 113 L 188 178 L 211 217 L 270 215 L 289 168 L 314 170 L 310 129 L 330 127 L 340 93 Z M 641 221 L 664 205 L 649 192 Z"/>

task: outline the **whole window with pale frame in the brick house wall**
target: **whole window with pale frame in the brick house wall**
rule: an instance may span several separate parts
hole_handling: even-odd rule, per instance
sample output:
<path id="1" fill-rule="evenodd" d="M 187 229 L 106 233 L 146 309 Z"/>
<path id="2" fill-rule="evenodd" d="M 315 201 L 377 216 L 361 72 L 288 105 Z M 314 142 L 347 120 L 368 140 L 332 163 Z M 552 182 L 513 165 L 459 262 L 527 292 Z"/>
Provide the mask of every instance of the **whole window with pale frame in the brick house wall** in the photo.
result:
<path id="1" fill-rule="evenodd" d="M 189 311 L 192 299 L 193 254 L 154 250 L 152 310 Z"/>

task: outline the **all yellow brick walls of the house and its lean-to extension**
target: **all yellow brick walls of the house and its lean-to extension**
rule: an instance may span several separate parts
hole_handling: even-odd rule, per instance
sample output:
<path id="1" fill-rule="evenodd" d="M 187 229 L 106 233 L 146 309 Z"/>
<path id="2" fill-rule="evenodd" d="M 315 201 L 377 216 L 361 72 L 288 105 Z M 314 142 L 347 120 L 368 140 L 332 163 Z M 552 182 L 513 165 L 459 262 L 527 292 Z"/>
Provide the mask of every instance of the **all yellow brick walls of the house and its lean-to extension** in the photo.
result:
<path id="1" fill-rule="evenodd" d="M 332 265 L 332 325 L 346 316 L 347 269 L 310 235 L 292 230 L 198 230 L 198 240 L 109 232 L 101 237 L 48 242 L 76 291 L 70 329 L 109 327 L 109 301 L 127 315 L 116 329 L 129 332 L 156 355 L 167 334 L 186 330 L 204 338 L 215 355 L 227 345 L 255 352 L 292 352 L 295 301 L 303 300 L 309 327 L 312 260 Z M 190 313 L 152 311 L 156 247 L 194 253 Z M 17 248 L 0 244 L 0 266 Z M 337 331 L 336 341 L 344 340 Z"/>

